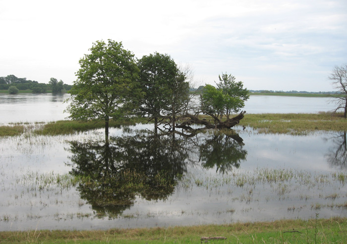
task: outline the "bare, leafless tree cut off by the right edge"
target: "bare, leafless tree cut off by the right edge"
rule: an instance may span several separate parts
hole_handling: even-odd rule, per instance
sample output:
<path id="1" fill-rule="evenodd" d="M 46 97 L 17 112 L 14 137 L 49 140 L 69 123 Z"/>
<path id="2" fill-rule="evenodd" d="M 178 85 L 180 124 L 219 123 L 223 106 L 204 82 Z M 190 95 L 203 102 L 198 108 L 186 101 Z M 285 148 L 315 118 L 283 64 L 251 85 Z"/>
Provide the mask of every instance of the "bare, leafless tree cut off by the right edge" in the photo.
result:
<path id="1" fill-rule="evenodd" d="M 335 112 L 344 109 L 344 118 L 347 116 L 347 64 L 335 66 L 331 72 L 329 79 L 333 82 L 333 87 L 338 89 L 338 95 L 332 95 L 337 104 Z"/>

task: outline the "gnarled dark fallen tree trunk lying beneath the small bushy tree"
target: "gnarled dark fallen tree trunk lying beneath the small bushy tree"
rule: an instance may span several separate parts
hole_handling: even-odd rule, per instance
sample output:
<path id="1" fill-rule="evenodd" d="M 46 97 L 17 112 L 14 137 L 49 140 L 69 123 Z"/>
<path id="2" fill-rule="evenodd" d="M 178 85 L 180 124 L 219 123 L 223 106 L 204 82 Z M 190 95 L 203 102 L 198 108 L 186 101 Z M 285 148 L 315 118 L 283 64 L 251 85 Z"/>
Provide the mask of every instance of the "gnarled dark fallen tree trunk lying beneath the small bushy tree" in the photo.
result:
<path id="1" fill-rule="evenodd" d="M 205 126 L 205 128 L 202 128 L 202 129 L 230 129 L 231 127 L 240 123 L 240 120 L 243 119 L 245 113 L 246 113 L 246 111 L 241 111 L 235 117 L 233 117 L 231 119 L 227 119 L 226 121 L 223 121 L 223 122 L 219 121 L 216 124 L 211 124 L 206 119 L 199 119 L 199 117 L 196 115 L 186 114 L 186 115 L 184 115 L 185 121 L 179 125 L 177 124 L 176 128 L 193 130 L 193 128 L 191 128 L 190 125 L 200 124 L 200 125 Z"/>

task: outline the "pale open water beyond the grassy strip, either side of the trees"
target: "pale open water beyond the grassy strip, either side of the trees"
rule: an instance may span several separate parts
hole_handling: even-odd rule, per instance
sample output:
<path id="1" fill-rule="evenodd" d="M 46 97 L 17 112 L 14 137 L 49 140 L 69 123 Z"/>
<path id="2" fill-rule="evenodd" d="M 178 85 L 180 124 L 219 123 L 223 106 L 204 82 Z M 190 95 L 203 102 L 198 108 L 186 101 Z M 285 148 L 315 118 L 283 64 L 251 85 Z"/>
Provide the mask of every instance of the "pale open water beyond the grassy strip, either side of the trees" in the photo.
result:
<path id="1" fill-rule="evenodd" d="M 0 124 L 14 122 L 47 122 L 65 119 L 63 113 L 70 95 L 0 94 Z M 250 96 L 245 102 L 247 113 L 317 113 L 335 108 L 330 98 Z"/>

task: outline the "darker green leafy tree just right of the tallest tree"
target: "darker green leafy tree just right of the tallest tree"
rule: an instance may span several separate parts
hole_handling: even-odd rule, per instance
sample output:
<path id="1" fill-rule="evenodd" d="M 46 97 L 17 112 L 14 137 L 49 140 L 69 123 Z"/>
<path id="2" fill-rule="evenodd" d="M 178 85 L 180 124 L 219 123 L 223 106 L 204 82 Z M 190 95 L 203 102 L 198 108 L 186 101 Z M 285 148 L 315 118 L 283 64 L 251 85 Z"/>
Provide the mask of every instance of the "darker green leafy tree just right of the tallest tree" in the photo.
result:
<path id="1" fill-rule="evenodd" d="M 154 119 L 157 132 L 159 119 L 165 113 L 174 115 L 180 99 L 187 91 L 184 74 L 179 71 L 170 55 L 158 52 L 143 56 L 138 61 L 138 67 L 140 86 L 144 92 L 139 109 L 150 119 Z"/>

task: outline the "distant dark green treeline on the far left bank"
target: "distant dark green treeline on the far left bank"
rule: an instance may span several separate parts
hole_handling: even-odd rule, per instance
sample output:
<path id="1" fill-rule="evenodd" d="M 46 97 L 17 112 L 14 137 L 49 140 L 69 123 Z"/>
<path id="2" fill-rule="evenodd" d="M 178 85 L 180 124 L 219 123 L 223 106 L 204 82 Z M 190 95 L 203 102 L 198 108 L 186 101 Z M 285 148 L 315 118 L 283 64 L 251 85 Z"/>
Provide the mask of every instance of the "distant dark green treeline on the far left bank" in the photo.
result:
<path id="1" fill-rule="evenodd" d="M 30 90 L 32 93 L 64 93 L 69 91 L 72 85 L 64 84 L 61 80 L 51 78 L 48 83 L 39 83 L 37 81 L 27 80 L 26 78 L 18 78 L 15 75 L 7 75 L 0 77 L 0 90 L 8 90 L 10 87 L 16 87 L 20 91 Z"/>

